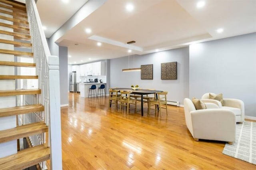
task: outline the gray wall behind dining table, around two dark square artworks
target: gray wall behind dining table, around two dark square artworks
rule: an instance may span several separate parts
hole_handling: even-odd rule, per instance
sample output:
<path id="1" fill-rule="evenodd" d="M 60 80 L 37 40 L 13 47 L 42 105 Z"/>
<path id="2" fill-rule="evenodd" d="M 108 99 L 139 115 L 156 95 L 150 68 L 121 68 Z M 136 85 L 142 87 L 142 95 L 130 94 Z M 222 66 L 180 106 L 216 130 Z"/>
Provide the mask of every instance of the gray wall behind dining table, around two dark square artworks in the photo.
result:
<path id="1" fill-rule="evenodd" d="M 161 80 L 161 63 L 177 61 L 178 79 Z M 110 59 L 110 87 L 130 87 L 139 85 L 143 89 L 168 91 L 169 101 L 179 101 L 188 97 L 189 91 L 189 48 L 172 49 L 145 55 L 130 55 L 130 67 L 153 64 L 153 80 L 141 80 L 140 71 L 122 72 L 128 68 L 128 57 Z"/>

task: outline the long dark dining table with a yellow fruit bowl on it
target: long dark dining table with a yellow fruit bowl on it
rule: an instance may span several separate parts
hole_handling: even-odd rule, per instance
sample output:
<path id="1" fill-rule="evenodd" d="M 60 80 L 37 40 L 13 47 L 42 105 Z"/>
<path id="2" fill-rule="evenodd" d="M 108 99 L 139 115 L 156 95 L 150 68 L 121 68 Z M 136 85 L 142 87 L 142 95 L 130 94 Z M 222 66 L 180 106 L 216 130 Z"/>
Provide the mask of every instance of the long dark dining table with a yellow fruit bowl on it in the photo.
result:
<path id="1" fill-rule="evenodd" d="M 143 95 L 148 95 L 148 94 L 154 94 L 158 92 L 163 92 L 161 90 L 148 90 L 148 89 L 138 89 L 138 90 L 133 90 L 131 88 L 111 88 L 112 90 L 117 90 L 117 91 L 131 91 L 132 94 L 136 95 L 141 95 L 141 116 L 143 116 Z M 157 98 L 157 95 L 156 95 Z"/>

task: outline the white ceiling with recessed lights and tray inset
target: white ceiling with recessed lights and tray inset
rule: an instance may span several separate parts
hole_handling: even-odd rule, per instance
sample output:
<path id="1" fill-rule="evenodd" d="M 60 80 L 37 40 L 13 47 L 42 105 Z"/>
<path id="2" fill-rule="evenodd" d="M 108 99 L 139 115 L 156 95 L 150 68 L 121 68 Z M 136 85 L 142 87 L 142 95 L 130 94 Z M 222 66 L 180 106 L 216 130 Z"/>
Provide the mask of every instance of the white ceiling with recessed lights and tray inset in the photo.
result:
<path id="1" fill-rule="evenodd" d="M 38 0 L 42 24 L 49 28 L 46 37 L 87 0 L 69 1 L 63 4 L 61 0 Z M 127 56 L 132 46 L 126 42 L 132 40 L 136 41 L 132 45 L 142 50 L 131 54 L 141 55 L 256 32 L 256 0 L 204 1 L 205 6 L 198 9 L 198 0 L 107 0 L 66 32 L 59 44 L 68 47 L 68 55 L 72 56 L 68 63 L 80 64 Z M 132 12 L 125 8 L 128 2 L 134 4 Z M 85 28 L 91 28 L 92 33 L 86 34 Z M 224 31 L 217 33 L 218 28 Z M 98 41 L 102 46 L 96 45 Z"/>

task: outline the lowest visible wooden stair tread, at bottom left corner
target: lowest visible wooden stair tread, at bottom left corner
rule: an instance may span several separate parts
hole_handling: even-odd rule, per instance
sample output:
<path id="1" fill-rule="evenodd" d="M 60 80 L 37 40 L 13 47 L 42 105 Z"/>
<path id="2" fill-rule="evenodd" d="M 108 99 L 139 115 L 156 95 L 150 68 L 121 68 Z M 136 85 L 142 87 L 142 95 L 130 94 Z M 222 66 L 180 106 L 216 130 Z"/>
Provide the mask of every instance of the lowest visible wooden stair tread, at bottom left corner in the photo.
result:
<path id="1" fill-rule="evenodd" d="M 45 144 L 39 145 L 20 150 L 17 154 L 0 158 L 0 169 L 25 169 L 48 159 L 50 159 L 50 148 Z"/>

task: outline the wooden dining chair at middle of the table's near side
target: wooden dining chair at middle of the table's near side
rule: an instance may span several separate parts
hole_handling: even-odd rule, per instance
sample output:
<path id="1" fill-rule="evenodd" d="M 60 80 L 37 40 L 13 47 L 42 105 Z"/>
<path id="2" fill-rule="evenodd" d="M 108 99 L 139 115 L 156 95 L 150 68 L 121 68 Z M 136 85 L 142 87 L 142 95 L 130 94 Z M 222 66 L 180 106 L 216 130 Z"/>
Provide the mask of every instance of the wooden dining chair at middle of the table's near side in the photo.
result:
<path id="1" fill-rule="evenodd" d="M 134 113 L 137 112 L 137 105 L 136 105 L 136 99 L 130 98 L 131 91 L 120 91 L 121 93 L 121 99 L 120 99 L 120 109 L 123 107 L 126 107 L 126 114 L 128 114 L 128 111 L 130 109 L 130 104 L 135 105 Z"/>

